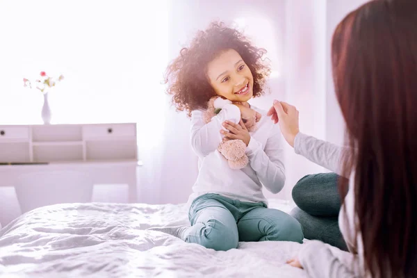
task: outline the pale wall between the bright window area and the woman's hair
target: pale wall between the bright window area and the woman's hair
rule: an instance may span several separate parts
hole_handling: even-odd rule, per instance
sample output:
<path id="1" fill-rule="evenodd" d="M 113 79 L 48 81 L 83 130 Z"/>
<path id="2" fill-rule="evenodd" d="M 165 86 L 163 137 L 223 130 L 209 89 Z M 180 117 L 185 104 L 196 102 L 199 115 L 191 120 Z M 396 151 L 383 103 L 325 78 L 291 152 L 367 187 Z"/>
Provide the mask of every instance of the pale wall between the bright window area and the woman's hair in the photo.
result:
<path id="1" fill-rule="evenodd" d="M 343 144 L 344 123 L 334 95 L 330 44 L 336 25 L 365 0 L 286 1 L 286 101 L 300 111 L 300 130 Z M 293 149 L 286 152 L 284 197 L 305 174 L 328 172 Z"/>

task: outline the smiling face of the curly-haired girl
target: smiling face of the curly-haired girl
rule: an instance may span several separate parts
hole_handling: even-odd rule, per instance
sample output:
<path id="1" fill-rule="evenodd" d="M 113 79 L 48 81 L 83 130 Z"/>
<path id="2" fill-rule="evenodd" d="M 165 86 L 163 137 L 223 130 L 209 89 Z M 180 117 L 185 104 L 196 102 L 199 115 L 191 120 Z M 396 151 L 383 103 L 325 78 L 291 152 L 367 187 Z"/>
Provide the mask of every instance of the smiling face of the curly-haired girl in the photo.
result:
<path id="1" fill-rule="evenodd" d="M 245 102 L 253 96 L 254 76 L 234 49 L 227 49 L 207 65 L 207 76 L 217 95 Z"/>

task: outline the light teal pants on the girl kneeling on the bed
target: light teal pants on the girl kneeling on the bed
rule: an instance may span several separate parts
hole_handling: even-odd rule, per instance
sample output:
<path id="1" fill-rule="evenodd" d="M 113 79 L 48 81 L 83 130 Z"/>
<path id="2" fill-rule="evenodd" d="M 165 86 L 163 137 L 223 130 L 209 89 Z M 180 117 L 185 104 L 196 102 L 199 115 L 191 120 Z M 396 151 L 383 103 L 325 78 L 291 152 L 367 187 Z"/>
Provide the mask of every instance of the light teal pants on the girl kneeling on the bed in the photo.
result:
<path id="1" fill-rule="evenodd" d="M 302 243 L 302 227 L 291 215 L 250 203 L 206 194 L 194 200 L 188 213 L 186 242 L 217 251 L 238 247 L 239 241 L 288 240 Z"/>

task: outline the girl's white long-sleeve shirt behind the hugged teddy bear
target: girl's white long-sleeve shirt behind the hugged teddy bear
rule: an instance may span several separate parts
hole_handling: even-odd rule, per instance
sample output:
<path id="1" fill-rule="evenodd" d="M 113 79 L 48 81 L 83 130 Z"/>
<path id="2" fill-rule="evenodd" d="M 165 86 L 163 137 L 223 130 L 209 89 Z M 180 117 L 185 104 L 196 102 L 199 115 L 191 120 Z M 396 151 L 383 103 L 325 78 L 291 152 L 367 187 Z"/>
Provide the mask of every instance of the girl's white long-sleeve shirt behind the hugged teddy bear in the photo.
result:
<path id="1" fill-rule="evenodd" d="M 271 193 L 278 193 L 285 182 L 283 149 L 279 125 L 273 124 L 266 117 L 265 111 L 252 106 L 263 117 L 257 122 L 258 129 L 250 132 L 250 142 L 246 149 L 249 163 L 246 167 L 233 170 L 227 159 L 218 152 L 222 141 L 220 133 L 222 123 L 229 120 L 240 121 L 240 110 L 233 104 L 227 104 L 222 111 L 204 123 L 203 111 L 191 114 L 191 143 L 195 154 L 199 157 L 199 174 L 193 186 L 193 194 L 188 204 L 206 193 L 216 193 L 243 202 L 265 202 L 262 186 Z"/>

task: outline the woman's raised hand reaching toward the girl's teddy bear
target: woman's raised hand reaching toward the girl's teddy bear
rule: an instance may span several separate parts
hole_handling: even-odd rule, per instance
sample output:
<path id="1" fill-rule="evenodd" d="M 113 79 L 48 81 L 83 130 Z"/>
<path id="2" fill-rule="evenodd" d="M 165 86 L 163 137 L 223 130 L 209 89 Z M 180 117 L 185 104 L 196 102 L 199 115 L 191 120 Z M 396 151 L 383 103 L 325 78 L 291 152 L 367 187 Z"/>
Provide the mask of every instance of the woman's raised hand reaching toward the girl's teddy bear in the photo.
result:
<path id="1" fill-rule="evenodd" d="M 300 126 L 298 124 L 298 111 L 295 106 L 287 104 L 284 101 L 274 101 L 274 106 L 268 111 L 268 116 L 271 116 L 271 120 L 279 122 L 282 136 L 291 147 L 294 147 L 295 136 L 300 132 Z"/>

